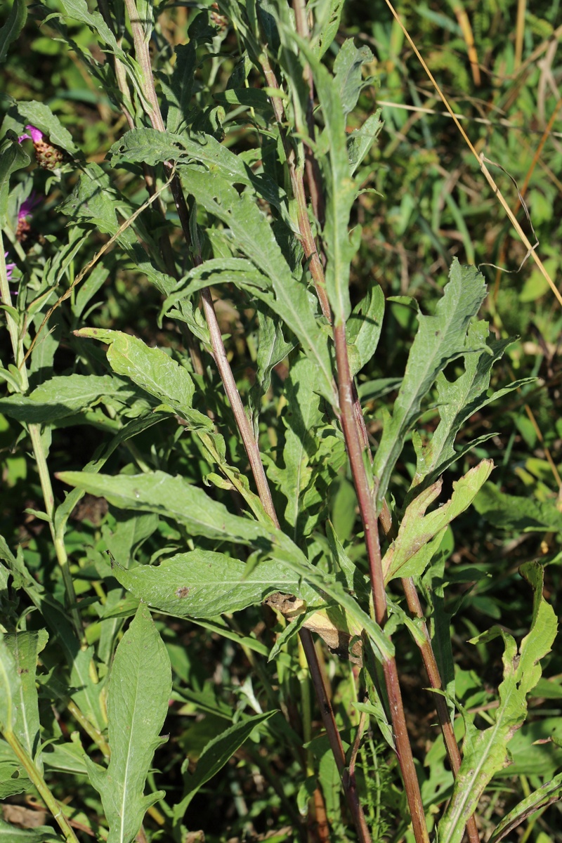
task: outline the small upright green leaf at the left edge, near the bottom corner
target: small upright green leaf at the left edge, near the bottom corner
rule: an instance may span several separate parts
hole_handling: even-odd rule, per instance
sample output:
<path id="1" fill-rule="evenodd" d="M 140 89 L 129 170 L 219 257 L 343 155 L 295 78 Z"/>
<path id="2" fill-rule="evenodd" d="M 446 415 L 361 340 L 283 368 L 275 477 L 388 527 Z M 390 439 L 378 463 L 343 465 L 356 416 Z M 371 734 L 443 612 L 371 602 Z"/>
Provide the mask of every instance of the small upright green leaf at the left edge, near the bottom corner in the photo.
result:
<path id="1" fill-rule="evenodd" d="M 18 632 L 4 636 L 4 643 L 12 654 L 20 679 L 19 688 L 14 696 L 16 718 L 13 733 L 29 758 L 34 760 L 41 775 L 43 761 L 40 755 L 39 702 L 35 688 L 35 672 L 38 655 L 45 647 L 47 638 L 46 630 Z"/>

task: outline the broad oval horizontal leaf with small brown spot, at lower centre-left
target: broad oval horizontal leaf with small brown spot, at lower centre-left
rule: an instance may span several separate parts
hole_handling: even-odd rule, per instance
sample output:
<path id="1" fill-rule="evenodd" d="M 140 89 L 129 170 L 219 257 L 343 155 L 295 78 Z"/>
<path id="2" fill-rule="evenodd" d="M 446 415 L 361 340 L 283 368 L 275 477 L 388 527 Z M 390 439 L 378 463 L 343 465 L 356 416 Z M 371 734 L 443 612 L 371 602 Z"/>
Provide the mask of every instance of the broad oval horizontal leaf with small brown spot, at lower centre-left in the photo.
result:
<path id="1" fill-rule="evenodd" d="M 260 561 L 249 572 L 247 563 L 211 550 L 178 553 L 158 566 L 115 565 L 113 573 L 136 598 L 176 617 L 212 618 L 261 603 L 273 591 L 302 590 L 301 577 L 278 561 Z"/>

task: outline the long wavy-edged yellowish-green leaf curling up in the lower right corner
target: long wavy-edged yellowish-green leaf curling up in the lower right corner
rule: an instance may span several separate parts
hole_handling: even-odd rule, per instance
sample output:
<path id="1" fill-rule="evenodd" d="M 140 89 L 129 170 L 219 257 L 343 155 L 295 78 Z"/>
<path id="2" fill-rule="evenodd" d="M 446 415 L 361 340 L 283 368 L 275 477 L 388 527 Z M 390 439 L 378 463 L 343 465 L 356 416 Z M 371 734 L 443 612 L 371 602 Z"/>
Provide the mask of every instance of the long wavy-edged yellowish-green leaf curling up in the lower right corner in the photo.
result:
<path id="1" fill-rule="evenodd" d="M 466 821 L 474 813 L 484 787 L 508 763 L 509 741 L 527 717 L 527 694 L 540 679 L 540 660 L 550 651 L 556 636 L 554 609 L 543 599 L 542 566 L 527 562 L 521 572 L 533 588 L 533 620 L 518 651 L 512 636 L 498 627 L 473 640 L 473 643 L 486 642 L 495 636 L 504 640 L 504 678 L 498 689 L 500 705 L 495 722 L 482 732 L 465 718 L 463 762 L 438 827 L 440 843 L 460 843 Z"/>

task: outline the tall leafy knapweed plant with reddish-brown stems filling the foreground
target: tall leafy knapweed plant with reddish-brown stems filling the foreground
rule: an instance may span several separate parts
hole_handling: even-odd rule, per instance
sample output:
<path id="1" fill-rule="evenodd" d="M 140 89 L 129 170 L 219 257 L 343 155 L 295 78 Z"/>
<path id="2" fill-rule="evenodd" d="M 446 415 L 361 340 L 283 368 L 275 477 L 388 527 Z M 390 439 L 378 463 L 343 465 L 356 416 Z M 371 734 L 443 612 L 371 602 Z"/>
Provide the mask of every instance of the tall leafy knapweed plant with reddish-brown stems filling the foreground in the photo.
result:
<path id="1" fill-rule="evenodd" d="M 468 421 L 527 380 L 490 389 L 509 340 L 474 266 L 431 314 L 361 280 L 382 123 L 357 119 L 376 66 L 342 6 L 8 13 L 3 59 L 40 25 L 110 143 L 8 102 L 0 412 L 29 494 L 0 540 L 0 791 L 45 813 L 3 840 L 477 843 L 559 797 L 549 744 L 495 811 L 548 696 L 542 566 L 525 626 L 453 620 L 494 576 L 451 559 L 494 469 Z M 509 511 L 490 484 L 479 512 Z"/>

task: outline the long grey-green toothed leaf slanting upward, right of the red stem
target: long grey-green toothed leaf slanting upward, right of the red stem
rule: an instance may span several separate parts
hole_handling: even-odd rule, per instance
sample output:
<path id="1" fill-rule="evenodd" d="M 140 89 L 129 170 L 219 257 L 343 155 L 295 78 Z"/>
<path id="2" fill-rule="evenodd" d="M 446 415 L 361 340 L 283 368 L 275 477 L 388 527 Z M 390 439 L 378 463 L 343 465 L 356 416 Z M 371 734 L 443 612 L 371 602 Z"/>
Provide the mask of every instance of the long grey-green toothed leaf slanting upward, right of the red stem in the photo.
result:
<path id="1" fill-rule="evenodd" d="M 463 354 L 469 321 L 484 301 L 484 278 L 474 266 L 460 266 L 455 259 L 449 277 L 435 316 L 418 317 L 419 328 L 409 352 L 404 380 L 394 401 L 393 414 L 383 427 L 373 464 L 378 478 L 377 509 L 388 491 L 404 438 L 420 414 L 421 401 L 447 363 Z"/>

